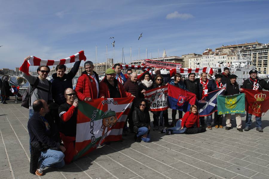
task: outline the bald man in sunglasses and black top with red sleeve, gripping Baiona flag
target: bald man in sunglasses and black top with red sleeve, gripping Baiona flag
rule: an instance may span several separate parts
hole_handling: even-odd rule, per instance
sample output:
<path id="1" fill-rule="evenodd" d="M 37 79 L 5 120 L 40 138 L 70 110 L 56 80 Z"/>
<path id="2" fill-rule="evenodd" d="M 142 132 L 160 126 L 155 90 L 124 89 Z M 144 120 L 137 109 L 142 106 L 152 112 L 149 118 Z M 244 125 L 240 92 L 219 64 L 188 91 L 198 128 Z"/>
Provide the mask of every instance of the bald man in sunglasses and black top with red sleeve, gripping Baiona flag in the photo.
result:
<path id="1" fill-rule="evenodd" d="M 60 137 L 66 148 L 65 151 L 65 163 L 69 164 L 74 156 L 74 144 L 76 141 L 77 130 L 77 106 L 78 101 L 74 101 L 76 94 L 72 88 L 65 90 L 66 102 L 59 106 L 60 117 Z"/>

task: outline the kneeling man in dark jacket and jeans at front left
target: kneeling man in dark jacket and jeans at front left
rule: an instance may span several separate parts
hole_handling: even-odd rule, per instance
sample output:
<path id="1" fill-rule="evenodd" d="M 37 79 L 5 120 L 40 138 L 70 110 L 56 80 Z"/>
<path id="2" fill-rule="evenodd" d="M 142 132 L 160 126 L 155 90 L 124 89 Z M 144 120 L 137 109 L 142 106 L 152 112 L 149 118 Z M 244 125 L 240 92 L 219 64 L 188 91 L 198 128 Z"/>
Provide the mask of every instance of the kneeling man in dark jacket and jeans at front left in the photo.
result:
<path id="1" fill-rule="evenodd" d="M 43 169 L 47 167 L 63 167 L 65 147 L 60 145 L 59 133 L 56 125 L 45 115 L 49 112 L 49 106 L 43 99 L 33 102 L 34 114 L 28 121 L 28 132 L 31 145 L 30 168 L 37 168 L 36 175 L 42 176 Z M 34 150 L 39 150 L 39 162 L 37 166 L 32 166 L 36 160 L 32 158 Z M 32 160 L 33 159 L 33 160 Z M 38 160 L 38 159 L 37 159 Z M 31 172 L 31 170 L 30 170 Z"/>

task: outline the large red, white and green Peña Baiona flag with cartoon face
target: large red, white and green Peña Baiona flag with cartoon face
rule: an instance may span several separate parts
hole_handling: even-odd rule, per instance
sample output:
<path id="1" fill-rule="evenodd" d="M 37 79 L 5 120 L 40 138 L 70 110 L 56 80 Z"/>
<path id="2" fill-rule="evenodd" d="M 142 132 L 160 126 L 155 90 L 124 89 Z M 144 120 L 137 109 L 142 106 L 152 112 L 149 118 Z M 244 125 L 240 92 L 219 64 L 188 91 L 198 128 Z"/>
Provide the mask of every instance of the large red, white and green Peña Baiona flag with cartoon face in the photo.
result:
<path id="1" fill-rule="evenodd" d="M 122 139 L 122 129 L 134 98 L 98 98 L 79 101 L 77 135 L 73 160 L 96 149 L 105 141 Z"/>

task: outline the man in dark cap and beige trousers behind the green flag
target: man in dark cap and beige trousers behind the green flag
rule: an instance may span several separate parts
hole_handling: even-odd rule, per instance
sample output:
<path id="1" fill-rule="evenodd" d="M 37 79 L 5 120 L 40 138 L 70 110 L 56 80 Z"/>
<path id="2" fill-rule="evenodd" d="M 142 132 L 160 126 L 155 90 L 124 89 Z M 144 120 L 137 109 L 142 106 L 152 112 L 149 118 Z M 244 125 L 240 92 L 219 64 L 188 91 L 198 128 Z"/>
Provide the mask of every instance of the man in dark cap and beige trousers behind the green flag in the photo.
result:
<path id="1" fill-rule="evenodd" d="M 236 75 L 230 75 L 229 79 L 230 82 L 226 84 L 226 91 L 225 95 L 236 95 L 239 94 L 239 84 L 236 82 Z M 241 120 L 241 114 L 240 113 L 235 113 L 236 116 L 236 128 L 239 132 L 243 132 L 242 130 L 242 120 Z M 232 128 L 231 124 L 231 114 L 226 114 L 226 130 L 230 130 Z"/>

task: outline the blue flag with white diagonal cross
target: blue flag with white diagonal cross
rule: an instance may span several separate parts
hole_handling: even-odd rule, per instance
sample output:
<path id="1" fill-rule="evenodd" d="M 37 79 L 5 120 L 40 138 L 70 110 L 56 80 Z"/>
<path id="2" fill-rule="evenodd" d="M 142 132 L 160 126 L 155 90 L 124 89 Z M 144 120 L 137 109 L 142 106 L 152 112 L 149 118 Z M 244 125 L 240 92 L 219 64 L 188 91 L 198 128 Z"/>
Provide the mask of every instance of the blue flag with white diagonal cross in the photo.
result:
<path id="1" fill-rule="evenodd" d="M 217 111 L 217 95 L 224 93 L 225 88 L 221 88 L 215 91 L 208 93 L 208 96 L 205 96 L 199 101 L 199 115 L 200 116 L 209 116 L 213 112 Z M 219 97 L 219 96 L 218 96 Z"/>

